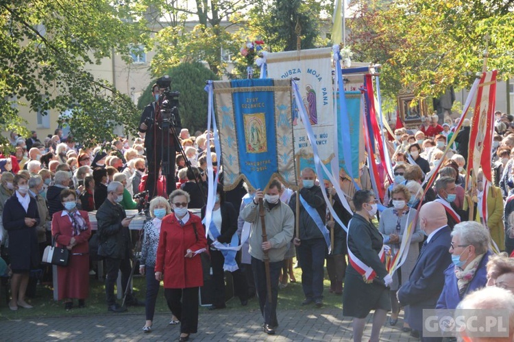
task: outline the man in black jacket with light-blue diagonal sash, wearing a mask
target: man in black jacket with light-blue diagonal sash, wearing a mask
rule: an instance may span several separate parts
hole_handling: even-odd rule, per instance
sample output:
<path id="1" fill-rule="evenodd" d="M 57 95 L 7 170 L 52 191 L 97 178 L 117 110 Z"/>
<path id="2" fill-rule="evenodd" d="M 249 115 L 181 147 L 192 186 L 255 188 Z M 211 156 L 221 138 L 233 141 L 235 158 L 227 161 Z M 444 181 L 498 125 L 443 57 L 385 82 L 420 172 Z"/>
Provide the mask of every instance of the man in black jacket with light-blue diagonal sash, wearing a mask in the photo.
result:
<path id="1" fill-rule="evenodd" d="M 327 245 L 321 229 L 325 228 L 326 204 L 323 200 L 321 187 L 314 185 L 316 174 L 311 168 L 302 170 L 299 209 L 299 236 L 295 237 L 294 244 L 298 247 L 297 257 L 302 267 L 302 289 L 305 300 L 302 305 L 315 303 L 317 307 L 323 305 L 323 265 Z M 306 209 L 304 203 L 310 207 Z M 296 211 L 296 196 L 293 194 L 289 207 Z M 316 219 L 316 220 L 315 220 Z M 316 223 L 320 220 L 319 227 Z"/>

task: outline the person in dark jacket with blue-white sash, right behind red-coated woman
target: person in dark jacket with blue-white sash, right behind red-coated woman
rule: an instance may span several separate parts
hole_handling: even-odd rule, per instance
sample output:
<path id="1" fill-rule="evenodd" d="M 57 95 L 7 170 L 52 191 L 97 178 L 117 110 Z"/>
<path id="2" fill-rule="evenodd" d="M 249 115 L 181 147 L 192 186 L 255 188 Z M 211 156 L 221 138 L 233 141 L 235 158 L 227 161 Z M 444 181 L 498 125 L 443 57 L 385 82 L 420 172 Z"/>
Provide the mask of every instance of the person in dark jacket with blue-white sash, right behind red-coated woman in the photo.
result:
<path id="1" fill-rule="evenodd" d="M 206 207 L 201 209 L 201 218 L 205 218 Z M 237 231 L 238 214 L 234 206 L 225 202 L 225 192 L 221 185 L 216 189 L 216 203 L 212 210 L 212 221 L 208 230 L 207 242 L 210 252 L 210 263 L 212 267 L 212 306 L 210 310 L 225 308 L 225 280 L 224 271 L 232 273 L 234 279 L 234 294 L 239 297 L 241 305 L 248 304 L 248 285 L 245 275 L 236 263 L 236 252 L 221 252 L 213 246 L 214 241 L 221 244 L 238 246 L 239 239 Z M 226 258 L 226 259 L 225 259 Z"/>

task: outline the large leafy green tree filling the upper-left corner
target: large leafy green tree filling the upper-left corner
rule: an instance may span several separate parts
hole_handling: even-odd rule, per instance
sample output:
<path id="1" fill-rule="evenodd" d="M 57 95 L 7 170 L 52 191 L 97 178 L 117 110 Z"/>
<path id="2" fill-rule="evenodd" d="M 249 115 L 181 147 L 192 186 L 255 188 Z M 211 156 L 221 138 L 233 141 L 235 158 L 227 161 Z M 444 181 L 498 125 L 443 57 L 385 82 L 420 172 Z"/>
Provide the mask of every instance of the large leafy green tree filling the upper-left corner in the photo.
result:
<path id="1" fill-rule="evenodd" d="M 1 1 L 0 108 L 9 120 L 0 129 L 23 129 L 16 103 L 42 112 L 75 108 L 69 124 L 77 140 L 110 139 L 111 123 L 131 122 L 130 98 L 87 66 L 130 56 L 130 44 L 145 36 L 139 14 L 132 1 Z"/>

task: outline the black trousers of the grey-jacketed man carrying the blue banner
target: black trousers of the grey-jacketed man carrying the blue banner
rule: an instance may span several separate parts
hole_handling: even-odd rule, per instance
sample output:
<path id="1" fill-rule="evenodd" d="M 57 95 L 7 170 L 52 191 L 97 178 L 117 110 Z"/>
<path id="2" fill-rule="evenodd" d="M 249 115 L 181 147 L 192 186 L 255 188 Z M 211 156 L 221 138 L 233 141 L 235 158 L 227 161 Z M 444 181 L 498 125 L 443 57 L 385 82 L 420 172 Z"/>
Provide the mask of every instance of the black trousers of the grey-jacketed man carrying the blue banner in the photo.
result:
<path id="1" fill-rule="evenodd" d="M 278 298 L 278 276 L 282 269 L 282 261 L 269 263 L 269 276 L 271 279 L 271 303 L 268 300 L 266 285 L 266 269 L 264 261 L 252 257 L 252 269 L 254 271 L 255 289 L 259 300 L 260 313 L 264 317 L 265 324 L 278 326 L 277 320 L 277 298 Z"/>

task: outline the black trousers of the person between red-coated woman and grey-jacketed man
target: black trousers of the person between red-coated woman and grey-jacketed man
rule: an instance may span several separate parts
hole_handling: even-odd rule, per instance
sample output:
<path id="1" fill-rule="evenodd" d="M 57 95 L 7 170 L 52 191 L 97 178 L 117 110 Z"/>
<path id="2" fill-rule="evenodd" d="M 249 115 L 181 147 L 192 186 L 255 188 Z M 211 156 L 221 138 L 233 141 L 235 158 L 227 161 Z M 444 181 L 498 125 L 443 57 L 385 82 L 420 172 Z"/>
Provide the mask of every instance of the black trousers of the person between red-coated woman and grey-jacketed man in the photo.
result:
<path id="1" fill-rule="evenodd" d="M 210 250 L 210 265 L 212 267 L 212 304 L 215 306 L 223 306 L 225 304 L 225 271 L 223 271 L 223 263 L 225 258 L 219 250 Z M 239 263 L 237 263 L 239 265 Z M 248 297 L 248 285 L 246 283 L 245 274 L 241 272 L 241 268 L 231 272 L 234 280 L 234 294 L 240 300 Z"/>

